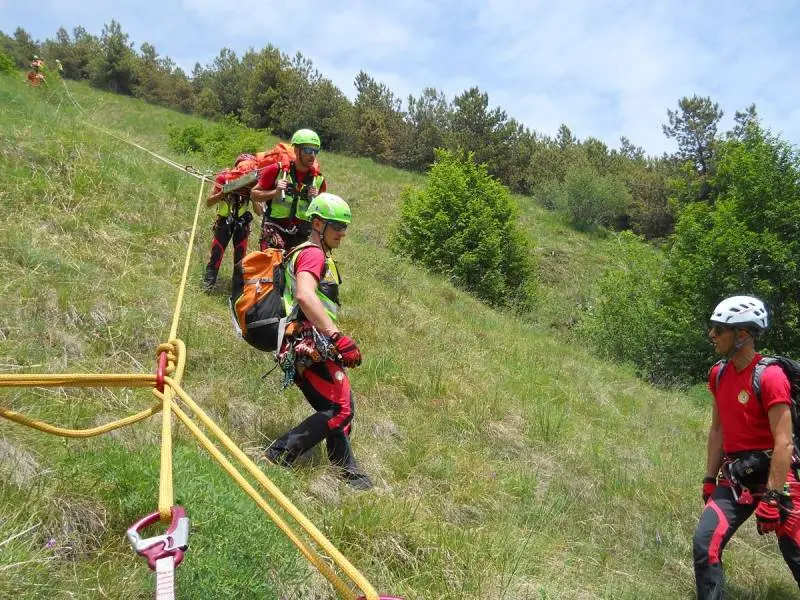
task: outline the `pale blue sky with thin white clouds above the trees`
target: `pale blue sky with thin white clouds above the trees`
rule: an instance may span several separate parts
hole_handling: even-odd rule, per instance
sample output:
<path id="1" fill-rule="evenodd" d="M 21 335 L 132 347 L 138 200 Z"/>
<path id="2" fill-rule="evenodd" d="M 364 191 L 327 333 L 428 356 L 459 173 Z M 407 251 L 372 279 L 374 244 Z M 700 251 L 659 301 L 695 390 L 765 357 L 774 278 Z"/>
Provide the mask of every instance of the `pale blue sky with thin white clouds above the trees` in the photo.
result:
<path id="1" fill-rule="evenodd" d="M 234 6 L 235 9 L 230 7 Z M 478 86 L 491 108 L 543 134 L 566 123 L 611 147 L 627 136 L 672 152 L 661 125 L 682 96 L 725 112 L 755 102 L 763 123 L 800 144 L 800 3 L 792 0 L 0 0 L 0 30 L 35 39 L 60 26 L 99 35 L 116 19 L 187 72 L 223 47 L 302 52 L 349 97 L 359 70 L 405 100 L 435 87 L 452 100 Z"/>

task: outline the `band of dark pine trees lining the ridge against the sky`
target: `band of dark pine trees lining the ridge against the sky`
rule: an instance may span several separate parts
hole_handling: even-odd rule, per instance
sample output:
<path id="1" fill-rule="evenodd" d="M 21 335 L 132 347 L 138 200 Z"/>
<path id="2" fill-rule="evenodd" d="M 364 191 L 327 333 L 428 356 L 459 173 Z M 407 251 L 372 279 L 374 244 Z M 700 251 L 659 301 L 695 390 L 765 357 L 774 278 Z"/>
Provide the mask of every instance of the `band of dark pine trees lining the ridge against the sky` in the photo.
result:
<path id="1" fill-rule="evenodd" d="M 0 50 L 19 68 L 33 53 L 59 59 L 64 77 L 90 82 L 98 89 L 141 98 L 209 119 L 231 120 L 288 138 L 313 124 L 326 151 L 370 158 L 424 173 L 437 148 L 471 153 L 478 164 L 515 193 L 530 195 L 544 187 L 565 187 L 569 203 L 555 208 L 578 227 L 632 228 L 647 238 L 668 235 L 674 210 L 666 202 L 669 178 L 680 172 L 682 155 L 646 157 L 625 137 L 619 149 L 595 138 L 578 139 L 567 125 L 550 136 L 524 127 L 477 87 L 448 99 L 435 88 L 399 98 L 387 85 L 363 71 L 356 75 L 351 101 L 312 62 L 289 56 L 272 45 L 237 56 L 222 48 L 191 76 L 143 41 L 137 49 L 122 26 L 112 20 L 99 36 L 64 28 L 41 44 L 18 27 L 0 32 Z M 708 100 L 710 102 L 710 100 Z M 697 104 L 685 109 L 695 110 Z M 693 115 L 694 116 L 694 115 Z M 684 112 L 671 116 L 676 137 Z M 706 113 L 697 120 L 705 125 Z M 716 127 L 716 121 L 712 123 Z M 691 149 L 691 148 L 690 148 Z M 595 208 L 594 198 L 602 197 Z"/>

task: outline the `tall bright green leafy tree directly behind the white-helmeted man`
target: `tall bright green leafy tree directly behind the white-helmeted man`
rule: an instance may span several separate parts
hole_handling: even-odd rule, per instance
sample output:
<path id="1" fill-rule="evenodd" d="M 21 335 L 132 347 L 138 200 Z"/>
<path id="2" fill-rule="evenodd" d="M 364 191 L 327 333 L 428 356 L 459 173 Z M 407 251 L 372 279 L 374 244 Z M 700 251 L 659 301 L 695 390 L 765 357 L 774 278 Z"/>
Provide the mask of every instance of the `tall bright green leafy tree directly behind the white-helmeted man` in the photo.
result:
<path id="1" fill-rule="evenodd" d="M 719 142 L 711 181 L 713 205 L 680 215 L 664 272 L 667 311 L 657 374 L 700 379 L 712 360 L 703 335 L 720 299 L 764 300 L 772 313 L 762 344 L 800 354 L 800 157 L 788 143 L 751 122 L 741 139 Z"/>

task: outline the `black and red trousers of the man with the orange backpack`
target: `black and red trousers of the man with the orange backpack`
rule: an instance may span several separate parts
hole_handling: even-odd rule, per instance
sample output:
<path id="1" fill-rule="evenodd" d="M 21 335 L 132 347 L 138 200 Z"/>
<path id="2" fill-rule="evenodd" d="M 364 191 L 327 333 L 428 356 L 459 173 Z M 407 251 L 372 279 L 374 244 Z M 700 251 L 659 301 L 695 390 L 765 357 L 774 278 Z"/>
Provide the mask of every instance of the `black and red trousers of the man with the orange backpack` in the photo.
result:
<path id="1" fill-rule="evenodd" d="M 344 369 L 333 361 L 318 362 L 295 377 L 295 383 L 316 411 L 276 440 L 268 452 L 291 464 L 322 440 L 331 464 L 357 473 L 350 447 L 350 423 L 355 416 L 353 392 Z"/>

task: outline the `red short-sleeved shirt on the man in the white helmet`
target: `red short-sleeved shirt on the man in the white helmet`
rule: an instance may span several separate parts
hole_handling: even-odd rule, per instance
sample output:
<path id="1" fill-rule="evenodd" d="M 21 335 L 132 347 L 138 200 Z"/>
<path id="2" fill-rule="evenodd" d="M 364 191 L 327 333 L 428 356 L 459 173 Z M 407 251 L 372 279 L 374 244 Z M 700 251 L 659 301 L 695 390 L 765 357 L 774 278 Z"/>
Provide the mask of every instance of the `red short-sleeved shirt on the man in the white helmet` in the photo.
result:
<path id="1" fill-rule="evenodd" d="M 767 450 L 775 445 L 767 411 L 776 404 L 791 404 L 789 380 L 778 365 L 761 374 L 761 400 L 753 391 L 753 369 L 761 360 L 756 354 L 742 371 L 728 363 L 716 388 L 719 365 L 708 376 L 722 425 L 722 449 L 726 454 L 745 450 Z"/>

